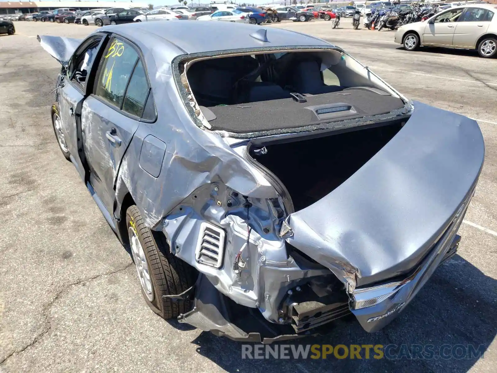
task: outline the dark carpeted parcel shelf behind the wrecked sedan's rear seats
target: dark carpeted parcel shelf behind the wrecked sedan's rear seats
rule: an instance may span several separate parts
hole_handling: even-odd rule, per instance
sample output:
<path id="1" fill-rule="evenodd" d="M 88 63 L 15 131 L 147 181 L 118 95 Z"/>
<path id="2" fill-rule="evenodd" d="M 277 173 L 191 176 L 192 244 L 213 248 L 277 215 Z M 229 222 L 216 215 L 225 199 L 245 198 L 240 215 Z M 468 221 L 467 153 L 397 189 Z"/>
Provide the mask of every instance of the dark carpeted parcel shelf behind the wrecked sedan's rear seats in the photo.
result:
<path id="1" fill-rule="evenodd" d="M 351 88 L 339 92 L 305 96 L 307 102 L 297 102 L 293 98 L 258 101 L 226 106 L 212 106 L 209 109 L 216 119 L 209 122 L 213 130 L 233 133 L 250 133 L 283 128 L 297 128 L 327 121 L 360 118 L 378 115 L 404 107 L 404 102 L 391 95 L 373 90 Z M 356 113 L 344 111 L 342 116 L 320 120 L 309 106 L 346 104 Z"/>

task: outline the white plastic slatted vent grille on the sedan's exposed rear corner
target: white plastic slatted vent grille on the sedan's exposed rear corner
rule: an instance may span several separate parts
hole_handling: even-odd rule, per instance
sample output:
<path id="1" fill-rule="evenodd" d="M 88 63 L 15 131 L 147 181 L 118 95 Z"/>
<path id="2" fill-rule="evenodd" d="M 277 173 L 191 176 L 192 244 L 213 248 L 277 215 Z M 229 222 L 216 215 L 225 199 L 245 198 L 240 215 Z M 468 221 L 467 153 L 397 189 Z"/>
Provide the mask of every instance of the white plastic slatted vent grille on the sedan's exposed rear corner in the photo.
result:
<path id="1" fill-rule="evenodd" d="M 198 263 L 209 267 L 221 268 L 224 257 L 223 229 L 210 223 L 203 222 L 200 225 L 195 259 Z"/>

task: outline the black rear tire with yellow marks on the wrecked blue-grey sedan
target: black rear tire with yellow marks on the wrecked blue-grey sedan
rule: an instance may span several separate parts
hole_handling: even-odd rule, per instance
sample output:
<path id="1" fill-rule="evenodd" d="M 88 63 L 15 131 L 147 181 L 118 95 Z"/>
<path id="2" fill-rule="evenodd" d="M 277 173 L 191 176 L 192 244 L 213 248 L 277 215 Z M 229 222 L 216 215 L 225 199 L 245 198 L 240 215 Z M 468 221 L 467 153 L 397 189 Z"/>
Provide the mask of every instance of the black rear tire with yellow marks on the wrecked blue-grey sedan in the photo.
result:
<path id="1" fill-rule="evenodd" d="M 195 283 L 198 272 L 170 253 L 164 234 L 150 230 L 135 205 L 126 211 L 126 227 L 128 232 L 130 229 L 136 232 L 145 254 L 154 292 L 152 301 L 145 294 L 143 286 L 140 287 L 149 307 L 166 320 L 191 310 L 192 300 L 173 301 L 163 298 L 163 295 L 182 293 Z"/>

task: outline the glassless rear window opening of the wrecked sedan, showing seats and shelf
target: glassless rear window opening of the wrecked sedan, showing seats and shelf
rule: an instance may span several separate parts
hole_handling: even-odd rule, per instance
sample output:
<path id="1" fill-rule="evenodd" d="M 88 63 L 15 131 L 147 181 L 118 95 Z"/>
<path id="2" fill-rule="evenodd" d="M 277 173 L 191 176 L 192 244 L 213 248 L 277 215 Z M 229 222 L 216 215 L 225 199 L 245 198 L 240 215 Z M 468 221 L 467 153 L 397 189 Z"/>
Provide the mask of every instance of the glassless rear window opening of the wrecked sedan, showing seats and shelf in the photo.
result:
<path id="1" fill-rule="evenodd" d="M 298 128 L 384 114 L 405 104 L 338 50 L 199 58 L 183 66 L 182 83 L 194 97 L 195 112 L 213 130 Z"/>

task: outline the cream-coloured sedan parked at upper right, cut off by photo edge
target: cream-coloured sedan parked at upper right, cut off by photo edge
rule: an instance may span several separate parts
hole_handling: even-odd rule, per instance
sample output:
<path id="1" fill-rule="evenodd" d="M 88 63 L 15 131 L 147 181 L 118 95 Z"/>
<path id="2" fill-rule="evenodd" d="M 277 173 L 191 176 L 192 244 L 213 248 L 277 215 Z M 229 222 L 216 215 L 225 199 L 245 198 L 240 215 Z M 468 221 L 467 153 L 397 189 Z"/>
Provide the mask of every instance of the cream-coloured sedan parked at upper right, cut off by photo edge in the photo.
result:
<path id="1" fill-rule="evenodd" d="M 408 51 L 419 46 L 476 49 L 481 57 L 497 56 L 497 7 L 468 3 L 443 10 L 422 22 L 399 27 L 395 42 Z"/>

